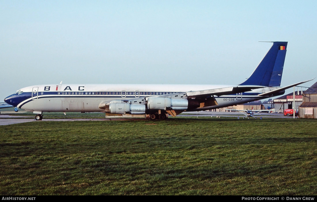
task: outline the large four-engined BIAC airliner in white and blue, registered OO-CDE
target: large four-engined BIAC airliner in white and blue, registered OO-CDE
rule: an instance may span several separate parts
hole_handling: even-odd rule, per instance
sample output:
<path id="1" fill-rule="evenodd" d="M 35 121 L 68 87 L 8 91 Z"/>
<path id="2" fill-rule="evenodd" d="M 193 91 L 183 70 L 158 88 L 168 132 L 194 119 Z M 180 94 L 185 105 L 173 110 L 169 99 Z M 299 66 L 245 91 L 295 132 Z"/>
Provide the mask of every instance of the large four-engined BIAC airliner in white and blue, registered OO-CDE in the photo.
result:
<path id="1" fill-rule="evenodd" d="M 29 86 L 4 99 L 36 114 L 43 112 L 104 112 L 145 114 L 164 120 L 184 111 L 202 111 L 282 95 L 287 42 L 273 42 L 251 76 L 239 85 L 47 84 Z"/>

